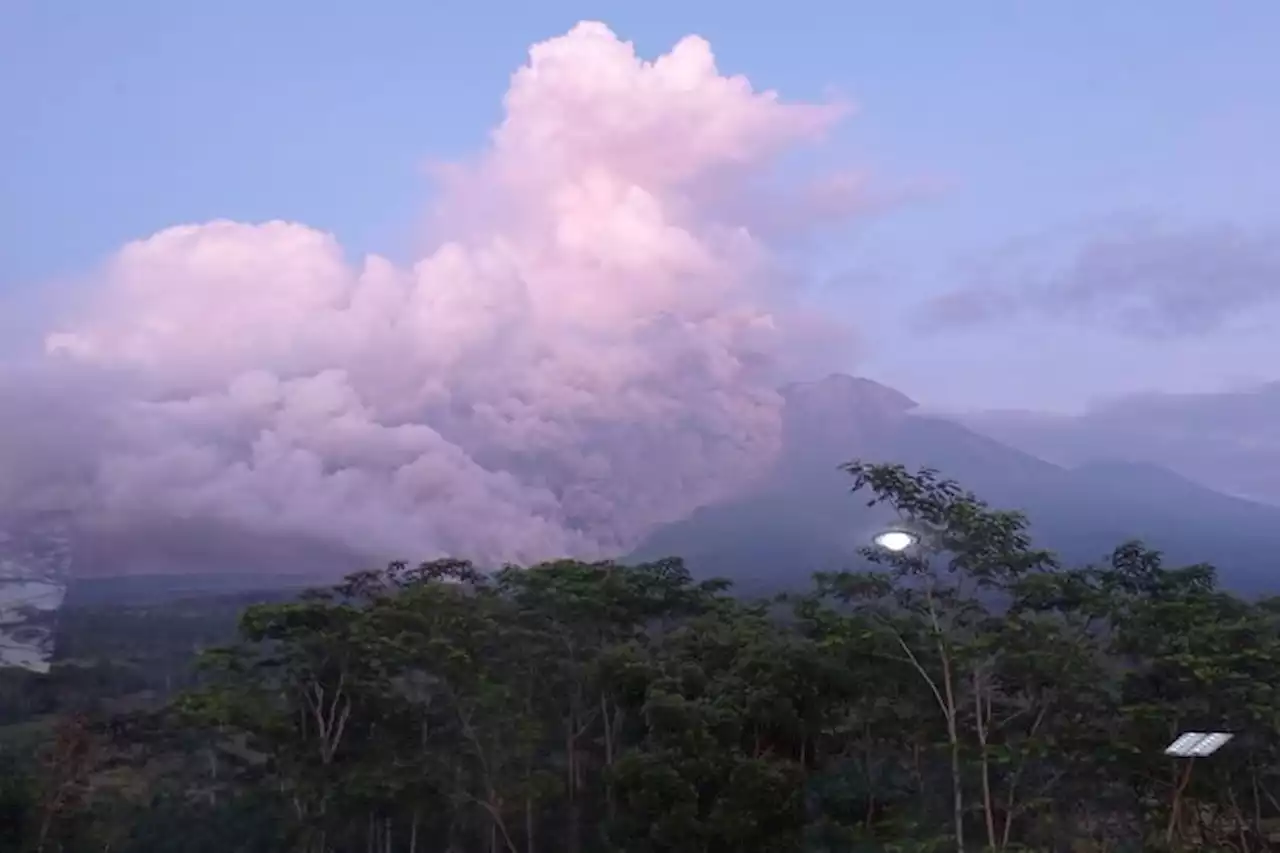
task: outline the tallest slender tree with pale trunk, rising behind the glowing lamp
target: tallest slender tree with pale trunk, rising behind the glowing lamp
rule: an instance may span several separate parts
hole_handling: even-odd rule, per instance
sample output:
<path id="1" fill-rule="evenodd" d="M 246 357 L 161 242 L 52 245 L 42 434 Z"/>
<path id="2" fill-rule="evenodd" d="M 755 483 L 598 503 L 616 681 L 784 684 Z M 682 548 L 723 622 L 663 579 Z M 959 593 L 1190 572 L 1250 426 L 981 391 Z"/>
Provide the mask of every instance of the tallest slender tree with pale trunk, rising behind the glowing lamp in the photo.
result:
<path id="1" fill-rule="evenodd" d="M 911 529 L 916 546 L 904 551 L 867 547 L 863 556 L 882 573 L 819 578 L 823 592 L 865 616 L 876 652 L 910 667 L 937 706 L 951 768 L 954 843 L 965 849 L 965 727 L 977 739 L 987 841 L 998 849 L 991 771 L 995 670 L 1005 648 L 992 605 L 1007 605 L 1014 584 L 1056 567 L 1052 555 L 1032 547 L 1027 520 L 991 510 L 937 471 L 901 465 L 850 462 L 854 492 L 868 506 L 888 505 Z"/>

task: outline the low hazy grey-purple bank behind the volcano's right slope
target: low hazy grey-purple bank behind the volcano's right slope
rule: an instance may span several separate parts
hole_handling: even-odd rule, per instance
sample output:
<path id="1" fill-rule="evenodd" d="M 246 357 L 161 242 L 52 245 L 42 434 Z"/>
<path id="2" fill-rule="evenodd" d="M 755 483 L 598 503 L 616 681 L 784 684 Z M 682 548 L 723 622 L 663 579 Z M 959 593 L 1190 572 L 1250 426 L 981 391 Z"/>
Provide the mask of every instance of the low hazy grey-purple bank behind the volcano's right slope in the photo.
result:
<path id="1" fill-rule="evenodd" d="M 1064 465 L 1125 459 L 1215 491 L 1280 505 L 1280 383 L 1199 394 L 1148 393 L 1080 415 L 950 415 L 996 441 Z"/>

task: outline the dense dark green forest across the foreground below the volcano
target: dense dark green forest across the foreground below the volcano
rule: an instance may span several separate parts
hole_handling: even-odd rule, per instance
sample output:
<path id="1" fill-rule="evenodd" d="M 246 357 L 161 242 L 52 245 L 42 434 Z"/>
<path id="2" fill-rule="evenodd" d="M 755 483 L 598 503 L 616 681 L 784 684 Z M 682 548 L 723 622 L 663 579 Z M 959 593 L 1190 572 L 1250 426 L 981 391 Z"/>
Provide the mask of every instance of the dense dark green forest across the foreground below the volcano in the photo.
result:
<path id="1" fill-rule="evenodd" d="M 918 544 L 776 599 L 442 561 L 68 610 L 0 683 L 0 850 L 1275 845 L 1280 599 L 1138 543 L 1061 566 L 933 471 L 846 467 Z M 1188 730 L 1235 738 L 1166 756 Z"/>

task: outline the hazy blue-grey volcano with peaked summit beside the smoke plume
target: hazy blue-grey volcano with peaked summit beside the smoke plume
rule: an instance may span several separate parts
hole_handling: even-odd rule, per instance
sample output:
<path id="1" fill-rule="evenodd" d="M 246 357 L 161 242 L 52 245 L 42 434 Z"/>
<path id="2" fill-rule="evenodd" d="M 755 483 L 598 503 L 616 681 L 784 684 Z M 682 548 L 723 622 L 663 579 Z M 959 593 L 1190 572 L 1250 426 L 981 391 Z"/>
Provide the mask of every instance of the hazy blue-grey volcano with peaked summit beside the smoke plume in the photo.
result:
<path id="1" fill-rule="evenodd" d="M 1172 562 L 1212 562 L 1236 589 L 1272 585 L 1280 507 L 1213 492 L 1151 464 L 1056 465 L 919 414 L 911 400 L 868 379 L 833 375 L 791 386 L 785 397 L 785 444 L 774 470 L 750 494 L 657 530 L 635 558 L 680 555 L 694 571 L 749 589 L 855 565 L 856 549 L 891 519 L 849 494 L 850 479 L 837 466 L 856 457 L 936 467 L 996 507 L 1027 512 L 1037 542 L 1071 562 L 1140 538 Z"/>

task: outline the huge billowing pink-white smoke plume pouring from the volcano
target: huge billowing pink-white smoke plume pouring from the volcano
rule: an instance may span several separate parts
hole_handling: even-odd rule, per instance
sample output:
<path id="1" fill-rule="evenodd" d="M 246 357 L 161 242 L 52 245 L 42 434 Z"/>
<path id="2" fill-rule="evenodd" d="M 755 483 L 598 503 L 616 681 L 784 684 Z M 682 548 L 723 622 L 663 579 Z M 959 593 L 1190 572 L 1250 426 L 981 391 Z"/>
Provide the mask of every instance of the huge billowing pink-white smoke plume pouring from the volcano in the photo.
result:
<path id="1" fill-rule="evenodd" d="M 777 450 L 776 388 L 820 329 L 724 200 L 759 197 L 838 115 L 721 76 L 699 38 L 645 63 L 580 24 L 532 49 L 483 156 L 442 173 L 439 240 L 412 266 L 287 222 L 116 252 L 47 338 L 60 371 L 111 391 L 81 416 L 92 459 L 65 455 L 76 476 L 44 488 L 83 485 L 86 517 L 140 530 L 626 551 Z"/>

